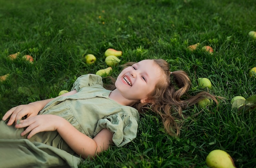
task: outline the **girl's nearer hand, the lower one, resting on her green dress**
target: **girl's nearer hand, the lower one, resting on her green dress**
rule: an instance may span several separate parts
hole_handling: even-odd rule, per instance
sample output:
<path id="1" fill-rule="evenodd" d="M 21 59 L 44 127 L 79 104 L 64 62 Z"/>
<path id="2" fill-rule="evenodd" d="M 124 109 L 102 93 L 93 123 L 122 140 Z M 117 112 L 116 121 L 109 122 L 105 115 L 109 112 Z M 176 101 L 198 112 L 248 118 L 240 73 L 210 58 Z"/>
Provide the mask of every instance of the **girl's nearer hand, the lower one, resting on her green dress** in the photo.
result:
<path id="1" fill-rule="evenodd" d="M 28 134 L 27 138 L 31 138 L 34 134 L 43 131 L 55 131 L 58 126 L 60 126 L 63 121 L 66 121 L 60 116 L 51 115 L 51 114 L 42 114 L 33 116 L 24 120 L 20 120 L 20 123 L 16 124 L 16 128 L 27 127 L 20 135 L 24 136 Z"/>

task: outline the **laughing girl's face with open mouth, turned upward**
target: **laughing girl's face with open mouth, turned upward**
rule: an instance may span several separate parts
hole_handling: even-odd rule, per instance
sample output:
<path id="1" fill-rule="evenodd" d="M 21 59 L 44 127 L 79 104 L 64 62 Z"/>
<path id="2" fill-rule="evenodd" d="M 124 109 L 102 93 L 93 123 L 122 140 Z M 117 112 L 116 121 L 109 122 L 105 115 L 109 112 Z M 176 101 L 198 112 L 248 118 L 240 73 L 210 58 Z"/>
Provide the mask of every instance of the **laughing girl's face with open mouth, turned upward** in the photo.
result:
<path id="1" fill-rule="evenodd" d="M 141 60 L 125 68 L 117 77 L 115 86 L 124 98 L 147 103 L 148 95 L 162 80 L 162 74 L 161 68 L 154 60 Z"/>

